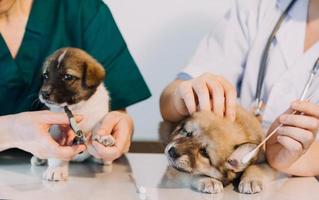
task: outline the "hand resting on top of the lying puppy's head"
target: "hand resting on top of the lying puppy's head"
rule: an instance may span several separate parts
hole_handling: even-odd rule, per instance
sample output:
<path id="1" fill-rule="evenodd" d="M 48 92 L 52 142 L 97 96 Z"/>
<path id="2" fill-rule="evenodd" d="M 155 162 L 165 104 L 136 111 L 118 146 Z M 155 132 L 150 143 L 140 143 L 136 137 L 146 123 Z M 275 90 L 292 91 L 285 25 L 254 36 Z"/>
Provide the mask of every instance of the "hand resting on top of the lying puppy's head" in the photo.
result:
<path id="1" fill-rule="evenodd" d="M 205 73 L 197 78 L 176 80 L 161 96 L 161 112 L 168 121 L 179 121 L 195 111 L 214 111 L 235 120 L 237 93 L 225 78 Z"/>

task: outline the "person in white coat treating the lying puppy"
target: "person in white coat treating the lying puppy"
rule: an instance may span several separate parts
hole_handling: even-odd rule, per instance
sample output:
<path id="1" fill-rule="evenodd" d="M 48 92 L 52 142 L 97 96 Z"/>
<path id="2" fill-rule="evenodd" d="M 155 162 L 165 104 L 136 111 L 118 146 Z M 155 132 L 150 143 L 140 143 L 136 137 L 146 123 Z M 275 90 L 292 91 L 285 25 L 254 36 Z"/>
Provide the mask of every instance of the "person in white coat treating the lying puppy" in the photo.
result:
<path id="1" fill-rule="evenodd" d="M 196 110 L 235 118 L 241 105 L 255 107 L 258 72 L 267 40 L 291 0 L 238 0 L 194 57 L 161 96 L 165 120 L 178 121 Z M 271 42 L 262 87 L 263 124 L 284 126 L 267 143 L 269 163 L 294 175 L 319 174 L 319 89 L 299 98 L 319 58 L 319 1 L 297 0 Z M 319 78 L 317 78 L 319 79 Z M 304 113 L 291 115 L 290 107 Z M 283 114 L 284 113 L 284 114 Z M 280 117 L 278 117 L 280 116 Z M 272 124 L 272 126 L 270 126 Z"/>

